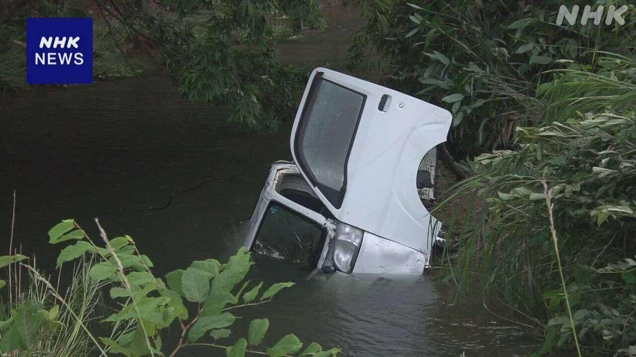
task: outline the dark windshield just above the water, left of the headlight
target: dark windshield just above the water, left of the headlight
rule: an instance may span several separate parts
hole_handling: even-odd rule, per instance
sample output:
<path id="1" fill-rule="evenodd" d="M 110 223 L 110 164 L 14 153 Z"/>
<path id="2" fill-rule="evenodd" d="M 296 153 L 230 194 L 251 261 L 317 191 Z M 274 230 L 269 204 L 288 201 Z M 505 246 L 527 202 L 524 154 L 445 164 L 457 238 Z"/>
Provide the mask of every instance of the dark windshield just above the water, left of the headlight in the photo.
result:
<path id="1" fill-rule="evenodd" d="M 314 269 L 326 231 L 316 222 L 272 201 L 265 210 L 253 249 L 276 260 L 289 260 Z"/>

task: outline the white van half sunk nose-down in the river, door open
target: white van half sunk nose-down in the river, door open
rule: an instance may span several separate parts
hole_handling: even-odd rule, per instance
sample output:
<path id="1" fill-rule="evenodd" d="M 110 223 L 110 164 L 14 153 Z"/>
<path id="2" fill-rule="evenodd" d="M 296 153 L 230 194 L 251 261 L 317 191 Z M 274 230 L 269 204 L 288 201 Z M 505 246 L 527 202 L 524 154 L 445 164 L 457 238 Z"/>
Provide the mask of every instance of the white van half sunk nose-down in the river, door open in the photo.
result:
<path id="1" fill-rule="evenodd" d="M 435 105 L 314 69 L 293 163 L 270 168 L 245 248 L 324 273 L 422 274 L 441 223 L 422 204 L 418 168 L 450 123 Z"/>

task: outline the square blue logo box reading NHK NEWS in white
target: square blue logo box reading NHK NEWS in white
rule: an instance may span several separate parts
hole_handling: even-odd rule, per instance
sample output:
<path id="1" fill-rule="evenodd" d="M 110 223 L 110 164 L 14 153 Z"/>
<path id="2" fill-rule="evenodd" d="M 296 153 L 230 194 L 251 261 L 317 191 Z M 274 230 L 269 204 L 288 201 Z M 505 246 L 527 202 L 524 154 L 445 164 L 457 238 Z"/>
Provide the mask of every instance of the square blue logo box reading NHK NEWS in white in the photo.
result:
<path id="1" fill-rule="evenodd" d="M 92 18 L 27 18 L 27 83 L 92 82 Z"/>

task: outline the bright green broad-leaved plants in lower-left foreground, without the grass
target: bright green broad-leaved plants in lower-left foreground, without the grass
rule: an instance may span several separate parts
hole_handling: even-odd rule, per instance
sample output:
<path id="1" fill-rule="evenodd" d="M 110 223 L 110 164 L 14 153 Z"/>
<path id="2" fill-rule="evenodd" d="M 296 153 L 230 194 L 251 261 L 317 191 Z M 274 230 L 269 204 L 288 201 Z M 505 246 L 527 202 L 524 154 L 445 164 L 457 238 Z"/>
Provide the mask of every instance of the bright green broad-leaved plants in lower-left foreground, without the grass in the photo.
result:
<path id="1" fill-rule="evenodd" d="M 282 337 L 273 346 L 261 347 L 269 327 L 266 318 L 252 320 L 244 337 L 237 339 L 234 344 L 219 344 L 218 340 L 231 335 L 228 327 L 236 320 L 233 311 L 265 304 L 283 288 L 294 285 L 276 283 L 262 293 L 263 283 L 249 286 L 245 276 L 252 262 L 250 254 L 244 249 L 230 257 L 226 264 L 214 259 L 197 260 L 187 269 L 166 274 L 164 281 L 153 275 L 153 263 L 137 250 L 130 236 L 108 239 L 106 232 L 101 227 L 99 229 L 104 246 L 96 245 L 74 220 L 57 224 L 49 231 L 49 237 L 52 244 L 73 242 L 60 252 L 58 267 L 64 262 L 89 255 L 95 259 L 95 264 L 88 271 L 90 280 L 84 283 L 108 287 L 111 299 L 118 302 L 115 312 L 100 323 L 111 325 L 111 333 L 106 337 L 99 337 L 98 340 L 93 331 L 81 324 L 100 355 L 175 356 L 183 347 L 195 345 L 225 349 L 230 357 L 244 356 L 245 353 L 280 357 L 301 351 L 303 343 L 293 333 Z M 5 260 L 10 264 L 17 259 L 0 259 Z M 63 307 L 58 310 L 56 305 L 46 311 L 41 302 L 27 300 L 19 308 L 13 309 L 10 318 L 0 322 L 0 351 L 31 353 L 34 345 L 29 343 L 29 339 L 41 339 L 46 330 L 43 324 L 46 321 L 60 324 L 56 320 L 57 312 L 64 312 L 65 309 L 71 311 L 67 301 L 55 288 L 35 269 L 30 269 L 34 278 L 42 281 Z M 176 346 L 163 346 L 162 332 L 172 325 L 181 327 L 179 342 Z M 312 342 L 300 355 L 328 357 L 336 356 L 338 351 L 337 348 L 322 351 L 319 344 Z"/>

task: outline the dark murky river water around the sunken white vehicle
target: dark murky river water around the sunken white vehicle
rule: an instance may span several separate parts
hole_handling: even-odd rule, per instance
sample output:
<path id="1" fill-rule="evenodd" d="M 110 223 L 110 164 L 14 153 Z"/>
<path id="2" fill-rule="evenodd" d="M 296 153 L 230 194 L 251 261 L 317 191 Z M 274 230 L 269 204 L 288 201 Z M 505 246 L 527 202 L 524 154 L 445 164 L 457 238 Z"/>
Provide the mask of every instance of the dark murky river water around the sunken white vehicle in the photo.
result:
<path id="1" fill-rule="evenodd" d="M 325 13 L 327 30 L 280 44 L 286 62 L 344 62 L 347 37 L 363 22 L 355 8 Z M 226 259 L 240 244 L 241 222 L 252 213 L 268 164 L 291 156 L 289 128 L 265 137 L 228 126 L 225 118 L 223 107 L 179 97 L 159 72 L 37 87 L 0 103 L 3 251 L 15 189 L 14 241 L 49 271 L 59 250 L 48 245 L 46 232 L 71 217 L 95 237 L 93 217 L 110 236 L 130 234 L 158 274 L 192 260 Z M 293 332 L 342 347 L 342 356 L 525 356 L 537 349 L 531 335 L 481 304 L 448 304 L 443 286 L 427 276 L 306 281 L 284 265 L 259 261 L 251 279 L 298 284 L 269 304 L 237 311 L 243 318 L 228 343 L 252 318 L 267 317 L 266 342 Z M 196 347 L 179 353 L 204 355 L 225 353 Z"/>

